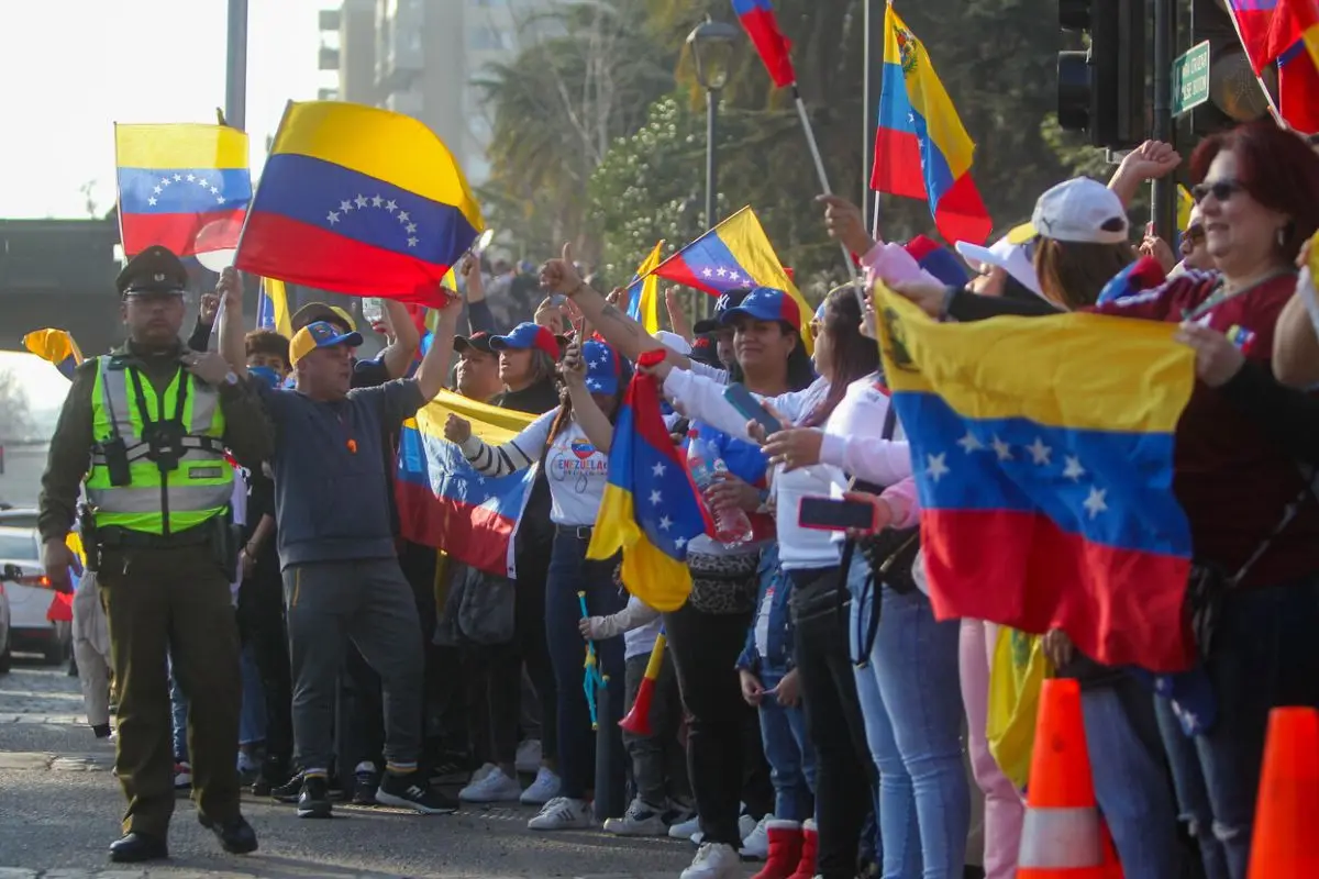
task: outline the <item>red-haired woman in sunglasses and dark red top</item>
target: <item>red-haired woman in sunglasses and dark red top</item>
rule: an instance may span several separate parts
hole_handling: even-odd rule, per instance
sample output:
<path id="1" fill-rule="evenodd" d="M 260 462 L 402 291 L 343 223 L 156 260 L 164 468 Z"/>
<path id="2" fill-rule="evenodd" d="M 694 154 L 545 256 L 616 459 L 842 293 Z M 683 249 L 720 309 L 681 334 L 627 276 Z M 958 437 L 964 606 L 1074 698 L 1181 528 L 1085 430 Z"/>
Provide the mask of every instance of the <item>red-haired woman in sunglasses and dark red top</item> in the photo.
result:
<path id="1" fill-rule="evenodd" d="M 1191 170 L 1217 273 L 1187 271 L 1093 310 L 1208 327 L 1268 370 L 1274 327 L 1297 286 L 1294 262 L 1319 229 L 1319 157 L 1261 121 L 1202 141 Z M 972 298 L 902 285 L 898 293 L 959 319 Z M 984 316 L 984 302 L 973 304 Z M 1183 339 L 1199 351 L 1200 336 L 1191 328 Z M 1198 360 L 1204 378 L 1208 358 Z M 1158 700 L 1182 813 L 1208 879 L 1246 875 L 1269 712 L 1319 706 L 1319 503 L 1295 457 L 1235 402 L 1231 383 L 1196 385 L 1178 423 L 1173 480 L 1195 560 L 1231 577 L 1204 662 L 1212 718 L 1183 727 Z"/>

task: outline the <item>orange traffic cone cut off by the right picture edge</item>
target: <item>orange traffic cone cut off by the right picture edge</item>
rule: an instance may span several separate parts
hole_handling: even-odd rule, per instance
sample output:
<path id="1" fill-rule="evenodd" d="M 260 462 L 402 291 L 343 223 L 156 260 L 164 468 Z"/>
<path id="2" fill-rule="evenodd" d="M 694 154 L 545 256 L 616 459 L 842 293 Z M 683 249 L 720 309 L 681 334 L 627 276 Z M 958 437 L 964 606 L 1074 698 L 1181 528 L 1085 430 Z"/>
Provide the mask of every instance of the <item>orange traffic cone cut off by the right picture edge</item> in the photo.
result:
<path id="1" fill-rule="evenodd" d="M 1275 708 L 1269 714 L 1249 878 L 1319 876 L 1319 849 L 1314 843 L 1316 814 L 1319 712 L 1312 708 Z"/>

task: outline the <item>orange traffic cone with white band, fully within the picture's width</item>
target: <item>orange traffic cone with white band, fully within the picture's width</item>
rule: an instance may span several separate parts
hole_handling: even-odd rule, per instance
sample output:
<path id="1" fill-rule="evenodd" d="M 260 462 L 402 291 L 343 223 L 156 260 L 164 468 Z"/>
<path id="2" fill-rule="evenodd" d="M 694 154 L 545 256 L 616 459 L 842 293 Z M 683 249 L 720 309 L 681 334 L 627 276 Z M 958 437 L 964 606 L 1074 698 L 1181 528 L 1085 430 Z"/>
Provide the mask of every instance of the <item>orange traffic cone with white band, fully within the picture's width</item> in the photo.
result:
<path id="1" fill-rule="evenodd" d="M 1091 778 L 1080 687 L 1046 680 L 1030 755 L 1017 879 L 1121 879 Z"/>

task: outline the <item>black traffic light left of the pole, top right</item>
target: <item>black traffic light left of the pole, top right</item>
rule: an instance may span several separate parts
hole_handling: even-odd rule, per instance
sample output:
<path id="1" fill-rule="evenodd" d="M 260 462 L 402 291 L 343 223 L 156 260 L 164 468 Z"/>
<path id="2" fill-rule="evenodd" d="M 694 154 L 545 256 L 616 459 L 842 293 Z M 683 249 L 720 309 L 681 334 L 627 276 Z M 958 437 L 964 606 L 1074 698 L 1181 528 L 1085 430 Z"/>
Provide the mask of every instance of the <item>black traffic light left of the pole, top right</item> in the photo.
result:
<path id="1" fill-rule="evenodd" d="M 1212 1 L 1212 0 L 1211 0 Z M 1058 53 L 1058 123 L 1092 146 L 1145 140 L 1146 0 L 1059 0 L 1058 24 L 1084 33 L 1086 51 Z"/>

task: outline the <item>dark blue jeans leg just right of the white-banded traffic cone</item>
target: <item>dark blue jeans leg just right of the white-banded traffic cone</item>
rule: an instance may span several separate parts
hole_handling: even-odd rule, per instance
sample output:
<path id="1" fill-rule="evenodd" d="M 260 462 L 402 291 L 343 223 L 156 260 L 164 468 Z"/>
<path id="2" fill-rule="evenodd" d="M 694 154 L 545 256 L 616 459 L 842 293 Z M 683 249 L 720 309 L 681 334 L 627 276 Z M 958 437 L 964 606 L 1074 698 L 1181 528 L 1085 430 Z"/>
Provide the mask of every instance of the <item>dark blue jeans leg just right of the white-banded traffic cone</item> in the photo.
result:
<path id="1" fill-rule="evenodd" d="M 1148 691 L 1124 677 L 1083 689 L 1080 698 L 1095 800 L 1125 879 L 1179 876 L 1177 807 Z"/>

